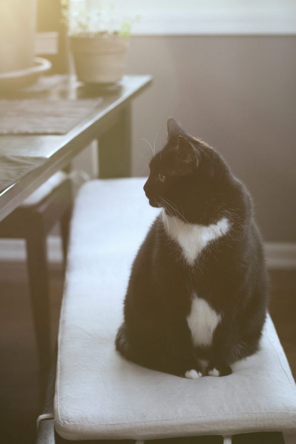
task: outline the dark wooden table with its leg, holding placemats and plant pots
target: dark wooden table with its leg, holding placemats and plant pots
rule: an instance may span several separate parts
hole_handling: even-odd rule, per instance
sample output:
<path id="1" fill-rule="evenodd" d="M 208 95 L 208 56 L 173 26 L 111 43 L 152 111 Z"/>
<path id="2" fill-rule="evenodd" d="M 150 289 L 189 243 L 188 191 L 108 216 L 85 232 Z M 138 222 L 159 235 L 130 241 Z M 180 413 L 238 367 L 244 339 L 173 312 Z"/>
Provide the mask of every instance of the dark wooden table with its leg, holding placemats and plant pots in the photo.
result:
<path id="1" fill-rule="evenodd" d="M 92 140 L 99 141 L 99 177 L 131 174 L 131 102 L 151 82 L 149 75 L 125 76 L 108 91 L 87 88 L 74 77 L 59 76 L 42 98 L 93 98 L 99 105 L 63 135 L 0 135 L 0 155 L 44 157 L 46 162 L 0 193 L 0 221 L 58 170 L 65 168 Z M 50 79 L 50 77 L 48 78 Z M 30 93 L 22 97 L 30 98 Z M 36 97 L 36 94 L 34 95 Z M 14 97 L 16 98 L 16 97 Z M 1 122 L 0 122 L 1 124 Z M 1 167 L 1 165 L 0 165 Z"/>

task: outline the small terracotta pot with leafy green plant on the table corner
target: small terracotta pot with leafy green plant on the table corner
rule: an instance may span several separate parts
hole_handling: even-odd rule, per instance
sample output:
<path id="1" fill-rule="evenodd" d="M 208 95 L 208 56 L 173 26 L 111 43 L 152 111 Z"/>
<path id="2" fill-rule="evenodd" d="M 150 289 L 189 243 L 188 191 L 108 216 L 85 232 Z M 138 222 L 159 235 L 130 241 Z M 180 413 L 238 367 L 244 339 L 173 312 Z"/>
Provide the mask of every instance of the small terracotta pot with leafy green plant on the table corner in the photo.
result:
<path id="1" fill-rule="evenodd" d="M 132 20 L 118 23 L 114 9 L 87 6 L 87 2 L 71 7 L 61 0 L 67 21 L 70 49 L 78 80 L 85 83 L 110 84 L 121 80 Z"/>

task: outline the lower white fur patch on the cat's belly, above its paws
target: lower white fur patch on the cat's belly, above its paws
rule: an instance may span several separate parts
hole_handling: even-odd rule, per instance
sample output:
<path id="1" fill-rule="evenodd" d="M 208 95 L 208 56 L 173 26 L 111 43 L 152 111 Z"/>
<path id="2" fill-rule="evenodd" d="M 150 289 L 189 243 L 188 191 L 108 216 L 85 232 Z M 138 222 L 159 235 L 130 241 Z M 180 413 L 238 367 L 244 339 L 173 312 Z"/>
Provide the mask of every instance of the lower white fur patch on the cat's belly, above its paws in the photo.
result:
<path id="1" fill-rule="evenodd" d="M 221 322 L 221 315 L 215 312 L 207 301 L 194 295 L 191 311 L 187 316 L 187 324 L 191 331 L 194 346 L 210 346 L 219 322 Z"/>

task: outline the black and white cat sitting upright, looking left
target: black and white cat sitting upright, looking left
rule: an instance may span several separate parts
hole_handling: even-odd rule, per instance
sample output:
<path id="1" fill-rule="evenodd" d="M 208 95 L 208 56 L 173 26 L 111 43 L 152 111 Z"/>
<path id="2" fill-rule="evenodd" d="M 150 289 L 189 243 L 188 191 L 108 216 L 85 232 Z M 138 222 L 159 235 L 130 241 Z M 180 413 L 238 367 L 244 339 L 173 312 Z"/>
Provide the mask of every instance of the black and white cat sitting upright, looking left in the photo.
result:
<path id="1" fill-rule="evenodd" d="M 116 349 L 142 366 L 225 376 L 258 350 L 268 279 L 245 186 L 222 157 L 168 120 L 144 192 L 162 213 L 133 262 Z"/>

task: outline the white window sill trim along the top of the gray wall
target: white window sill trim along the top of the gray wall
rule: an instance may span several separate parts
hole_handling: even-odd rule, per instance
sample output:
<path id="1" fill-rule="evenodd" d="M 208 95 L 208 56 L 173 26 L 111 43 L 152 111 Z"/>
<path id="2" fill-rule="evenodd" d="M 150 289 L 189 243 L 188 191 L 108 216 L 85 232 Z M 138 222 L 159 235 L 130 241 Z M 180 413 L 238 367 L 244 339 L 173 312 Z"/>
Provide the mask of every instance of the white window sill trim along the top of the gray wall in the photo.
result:
<path id="1" fill-rule="evenodd" d="M 132 35 L 296 35 L 296 8 L 139 11 Z"/>

